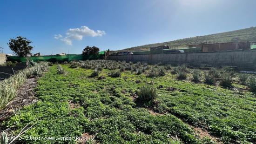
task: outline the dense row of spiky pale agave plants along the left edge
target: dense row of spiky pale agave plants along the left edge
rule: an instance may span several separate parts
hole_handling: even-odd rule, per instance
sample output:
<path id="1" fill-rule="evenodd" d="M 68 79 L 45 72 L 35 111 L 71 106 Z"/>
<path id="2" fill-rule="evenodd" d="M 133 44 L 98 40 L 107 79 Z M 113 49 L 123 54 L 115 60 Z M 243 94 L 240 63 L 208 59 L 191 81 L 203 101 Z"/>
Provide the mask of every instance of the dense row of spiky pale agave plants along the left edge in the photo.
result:
<path id="1" fill-rule="evenodd" d="M 0 81 L 0 109 L 4 108 L 9 102 L 16 97 L 16 93 L 27 78 L 41 77 L 43 71 L 47 70 L 48 63 L 30 62 L 30 67 L 17 72 L 10 78 Z"/>

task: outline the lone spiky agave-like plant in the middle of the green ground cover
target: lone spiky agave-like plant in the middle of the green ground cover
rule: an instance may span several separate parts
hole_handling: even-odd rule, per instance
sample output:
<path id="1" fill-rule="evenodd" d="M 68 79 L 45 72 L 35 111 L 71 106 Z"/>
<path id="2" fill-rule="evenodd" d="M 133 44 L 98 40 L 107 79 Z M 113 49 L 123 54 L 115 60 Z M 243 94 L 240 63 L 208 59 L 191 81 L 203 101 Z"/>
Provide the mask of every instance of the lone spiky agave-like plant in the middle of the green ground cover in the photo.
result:
<path id="1" fill-rule="evenodd" d="M 154 100 L 157 97 L 156 89 L 149 85 L 143 85 L 137 91 L 138 99 L 141 101 Z"/>

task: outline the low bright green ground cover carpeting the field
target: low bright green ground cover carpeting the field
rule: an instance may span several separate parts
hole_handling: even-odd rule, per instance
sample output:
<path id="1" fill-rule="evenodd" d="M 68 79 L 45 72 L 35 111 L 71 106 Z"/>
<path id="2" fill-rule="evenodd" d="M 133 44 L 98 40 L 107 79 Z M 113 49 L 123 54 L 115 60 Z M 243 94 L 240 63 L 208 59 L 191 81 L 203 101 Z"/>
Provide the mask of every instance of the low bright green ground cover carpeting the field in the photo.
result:
<path id="1" fill-rule="evenodd" d="M 158 65 L 147 65 L 145 72 L 137 74 L 135 68 L 146 65 L 105 60 L 74 62 L 72 66 L 61 65 L 66 74 L 57 74 L 57 65 L 53 65 L 38 80 L 35 91 L 39 101 L 26 106 L 5 125 L 14 126 L 17 134 L 26 124 L 35 124 L 24 134 L 29 137 L 87 134 L 88 143 L 102 144 L 256 141 L 256 97 L 246 85 L 233 82 L 228 89 L 206 85 L 203 79 L 195 83 L 191 81 L 191 69 L 186 70 L 186 80 L 178 80 L 176 74 L 171 73 L 174 67 L 167 68 L 163 76 L 148 77 L 150 69 L 162 67 Z M 103 69 L 92 77 L 95 66 Z M 126 70 L 120 77 L 108 75 L 122 67 Z M 145 84 L 156 89 L 158 96 L 153 101 L 136 100 L 138 88 Z M 206 128 L 220 140 L 199 136 L 190 125 Z M 76 140 L 23 141 L 28 144 L 77 143 Z"/>

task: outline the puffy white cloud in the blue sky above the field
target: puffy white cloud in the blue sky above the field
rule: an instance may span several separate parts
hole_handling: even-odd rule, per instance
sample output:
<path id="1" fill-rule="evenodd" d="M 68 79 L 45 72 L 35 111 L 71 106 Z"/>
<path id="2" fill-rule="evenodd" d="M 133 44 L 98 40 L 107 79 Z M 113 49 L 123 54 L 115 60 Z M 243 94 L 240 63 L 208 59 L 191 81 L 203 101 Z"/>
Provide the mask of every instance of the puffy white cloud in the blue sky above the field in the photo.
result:
<path id="1" fill-rule="evenodd" d="M 54 35 L 55 39 L 60 39 L 64 41 L 67 45 L 72 45 L 72 40 L 82 40 L 83 37 L 101 37 L 102 35 L 106 34 L 104 31 L 101 30 L 91 30 L 88 26 L 81 26 L 80 28 L 70 28 L 67 30 L 66 37 L 62 38 L 61 34 Z"/>

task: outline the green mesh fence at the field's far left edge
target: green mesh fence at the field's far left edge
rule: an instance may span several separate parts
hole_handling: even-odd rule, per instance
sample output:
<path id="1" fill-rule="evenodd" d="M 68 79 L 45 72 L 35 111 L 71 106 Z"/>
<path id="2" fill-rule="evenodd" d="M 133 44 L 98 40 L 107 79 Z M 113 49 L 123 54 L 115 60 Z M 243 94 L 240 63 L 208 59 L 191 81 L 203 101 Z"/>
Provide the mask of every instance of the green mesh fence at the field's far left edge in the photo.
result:
<path id="1" fill-rule="evenodd" d="M 71 61 L 71 60 L 86 60 L 86 59 L 101 59 L 104 55 L 82 55 L 82 54 L 67 54 L 67 55 L 53 55 L 53 56 L 32 56 L 28 57 L 30 60 L 34 62 L 37 61 L 49 61 L 49 62 L 63 62 L 63 61 Z M 17 57 L 17 56 L 7 56 L 8 61 L 17 61 L 25 63 L 26 57 Z"/>

